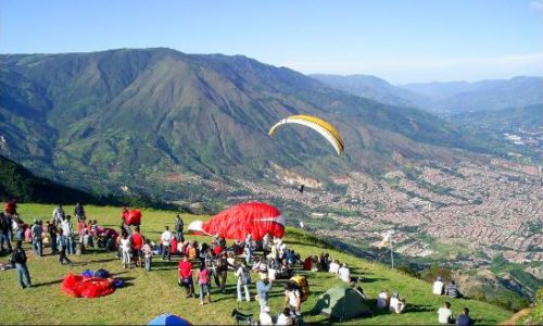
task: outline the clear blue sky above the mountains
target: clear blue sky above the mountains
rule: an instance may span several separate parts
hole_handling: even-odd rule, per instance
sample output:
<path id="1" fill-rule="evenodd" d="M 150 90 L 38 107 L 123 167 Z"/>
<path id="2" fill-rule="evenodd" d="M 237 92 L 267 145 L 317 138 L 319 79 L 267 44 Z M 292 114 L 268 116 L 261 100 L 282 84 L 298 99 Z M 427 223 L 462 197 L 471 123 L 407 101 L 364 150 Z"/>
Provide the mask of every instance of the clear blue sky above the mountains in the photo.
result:
<path id="1" fill-rule="evenodd" d="M 149 47 L 392 83 L 543 76 L 543 0 L 0 0 L 1 53 Z"/>

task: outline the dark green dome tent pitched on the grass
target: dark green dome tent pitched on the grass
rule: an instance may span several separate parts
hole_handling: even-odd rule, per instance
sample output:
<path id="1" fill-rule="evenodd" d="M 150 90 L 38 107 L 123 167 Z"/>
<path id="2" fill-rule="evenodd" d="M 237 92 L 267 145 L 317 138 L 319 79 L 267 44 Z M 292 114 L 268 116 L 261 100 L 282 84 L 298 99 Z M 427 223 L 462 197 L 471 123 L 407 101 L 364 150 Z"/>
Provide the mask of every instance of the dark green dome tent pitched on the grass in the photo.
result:
<path id="1" fill-rule="evenodd" d="M 331 319 L 343 322 L 371 314 L 371 310 L 361 292 L 346 285 L 339 285 L 318 298 L 312 313 L 324 314 Z"/>

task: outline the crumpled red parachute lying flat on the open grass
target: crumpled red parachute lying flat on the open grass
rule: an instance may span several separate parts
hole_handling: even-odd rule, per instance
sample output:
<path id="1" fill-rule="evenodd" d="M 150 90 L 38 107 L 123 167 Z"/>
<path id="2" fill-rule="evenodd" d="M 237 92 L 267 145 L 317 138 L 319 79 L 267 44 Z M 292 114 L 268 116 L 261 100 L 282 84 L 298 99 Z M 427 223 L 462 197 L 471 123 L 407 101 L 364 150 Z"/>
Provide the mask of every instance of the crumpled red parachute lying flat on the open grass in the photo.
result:
<path id="1" fill-rule="evenodd" d="M 72 297 L 97 298 L 115 291 L 113 283 L 108 278 L 86 277 L 68 274 L 61 284 L 61 289 Z"/>

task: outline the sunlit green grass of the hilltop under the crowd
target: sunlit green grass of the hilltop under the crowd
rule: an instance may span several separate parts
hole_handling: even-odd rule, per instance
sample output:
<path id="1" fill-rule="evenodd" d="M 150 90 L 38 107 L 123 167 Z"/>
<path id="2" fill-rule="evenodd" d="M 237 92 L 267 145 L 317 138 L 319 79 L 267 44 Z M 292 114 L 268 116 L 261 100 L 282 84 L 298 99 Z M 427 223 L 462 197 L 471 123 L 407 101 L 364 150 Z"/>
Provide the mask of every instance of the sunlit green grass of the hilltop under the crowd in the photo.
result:
<path id="1" fill-rule="evenodd" d="M 25 222 L 34 218 L 50 218 L 53 205 L 21 204 L 18 211 Z M 72 206 L 66 206 L 66 212 Z M 89 218 L 98 220 L 102 226 L 117 228 L 121 220 L 119 208 L 86 206 Z M 142 234 L 152 240 L 157 240 L 164 225 L 174 226 L 175 212 L 142 210 Z M 194 216 L 184 214 L 186 225 L 197 218 L 206 216 Z M 190 237 L 200 241 L 210 241 L 206 237 Z M 290 248 L 300 252 L 302 258 L 308 254 L 329 252 L 333 259 L 348 262 L 352 268 L 352 275 L 361 275 L 367 278 L 361 284 L 369 299 L 375 299 L 381 289 L 399 291 L 401 297 L 407 300 L 406 313 L 391 315 L 388 312 L 375 311 L 374 316 L 349 321 L 344 324 L 367 325 L 412 325 L 412 324 L 437 324 L 437 310 L 446 300 L 453 304 L 453 312 L 458 314 L 462 308 L 469 306 L 471 316 L 478 324 L 497 324 L 513 315 L 513 313 L 484 302 L 464 299 L 449 299 L 431 294 L 431 285 L 422 280 L 412 278 L 400 272 L 390 271 L 386 266 L 371 264 L 367 261 L 356 259 L 330 249 L 323 249 L 318 241 L 296 229 L 289 228 L 286 242 Z M 90 251 L 84 255 L 71 256 L 74 265 L 60 265 L 58 256 L 48 255 L 49 248 L 45 249 L 43 258 L 36 258 L 26 244 L 28 255 L 28 268 L 33 280 L 30 289 L 21 289 L 16 283 L 14 269 L 0 272 L 0 324 L 146 324 L 154 316 L 162 313 L 174 313 L 180 315 L 193 324 L 232 324 L 230 313 L 237 306 L 236 278 L 228 275 L 227 293 L 217 293 L 212 288 L 211 304 L 200 305 L 199 300 L 186 299 L 185 291 L 177 285 L 178 258 L 172 262 L 154 258 L 153 271 L 147 273 L 142 268 L 124 271 L 121 261 L 115 259 L 114 253 L 101 253 Z M 1 258 L 7 262 L 8 258 Z M 117 289 L 113 294 L 97 299 L 81 299 L 66 296 L 60 288 L 64 276 L 72 272 L 79 274 L 83 271 L 105 268 L 126 280 L 127 286 Z M 304 321 L 306 323 L 325 323 L 327 318 L 321 315 L 310 314 L 318 296 L 324 293 L 333 285 L 340 283 L 328 273 L 307 273 L 312 296 L 303 304 Z M 256 279 L 256 275 L 253 280 Z M 254 298 L 255 287 L 250 288 Z M 270 306 L 272 313 L 280 312 L 283 294 L 282 285 L 274 286 Z M 374 303 L 375 301 L 369 301 Z M 257 302 L 242 302 L 239 306 L 243 312 L 258 314 Z"/>

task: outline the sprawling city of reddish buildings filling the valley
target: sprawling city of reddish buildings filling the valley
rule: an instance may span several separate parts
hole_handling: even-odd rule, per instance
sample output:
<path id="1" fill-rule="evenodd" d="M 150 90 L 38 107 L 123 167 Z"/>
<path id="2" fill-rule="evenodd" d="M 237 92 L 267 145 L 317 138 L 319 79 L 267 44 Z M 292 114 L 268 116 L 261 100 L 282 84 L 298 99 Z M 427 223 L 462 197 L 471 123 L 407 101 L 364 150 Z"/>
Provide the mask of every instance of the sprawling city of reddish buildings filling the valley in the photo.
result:
<path id="1" fill-rule="evenodd" d="M 274 166 L 283 186 L 236 178 L 251 193 L 230 201 L 280 200 L 306 227 L 326 238 L 364 243 L 368 250 L 392 230 L 394 252 L 440 258 L 465 267 L 488 265 L 502 255 L 513 263 L 543 261 L 543 178 L 503 164 L 426 162 L 380 178 L 353 172 L 332 181 L 342 190 L 301 192 L 302 177 Z M 200 180 L 216 190 L 233 187 Z M 330 223 L 333 221 L 333 223 Z"/>

